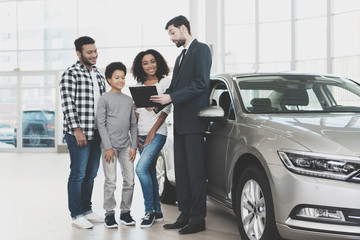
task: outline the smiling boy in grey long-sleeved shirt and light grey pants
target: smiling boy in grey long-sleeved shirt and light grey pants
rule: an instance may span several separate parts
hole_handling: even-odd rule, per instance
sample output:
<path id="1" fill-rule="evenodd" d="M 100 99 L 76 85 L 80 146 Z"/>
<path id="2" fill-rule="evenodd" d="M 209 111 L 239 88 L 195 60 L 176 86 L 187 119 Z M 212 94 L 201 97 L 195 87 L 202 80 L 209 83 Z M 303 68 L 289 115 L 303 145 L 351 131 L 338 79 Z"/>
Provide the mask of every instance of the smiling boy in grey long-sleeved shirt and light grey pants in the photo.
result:
<path id="1" fill-rule="evenodd" d="M 130 207 L 134 192 L 137 123 L 132 98 L 121 92 L 125 85 L 125 76 L 126 67 L 121 62 L 113 62 L 106 67 L 105 78 L 111 90 L 100 97 L 97 112 L 105 174 L 104 209 L 107 228 L 118 227 L 114 218 L 116 158 L 120 163 L 123 177 L 120 221 L 127 226 L 135 225 L 130 215 Z"/>

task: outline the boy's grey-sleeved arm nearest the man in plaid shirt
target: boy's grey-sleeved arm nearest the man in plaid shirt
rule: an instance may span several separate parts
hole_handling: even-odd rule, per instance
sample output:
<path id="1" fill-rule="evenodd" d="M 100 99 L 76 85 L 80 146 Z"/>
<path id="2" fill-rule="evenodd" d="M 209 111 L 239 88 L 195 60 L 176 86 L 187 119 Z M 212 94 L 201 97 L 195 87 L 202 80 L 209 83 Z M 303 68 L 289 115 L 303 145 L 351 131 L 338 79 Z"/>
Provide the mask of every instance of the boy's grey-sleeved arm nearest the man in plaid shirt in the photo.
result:
<path id="1" fill-rule="evenodd" d="M 97 115 L 96 118 L 97 118 L 98 130 L 101 137 L 101 141 L 104 145 L 104 149 L 105 150 L 112 149 L 112 144 L 110 141 L 110 136 L 106 125 L 107 109 L 106 109 L 105 99 L 103 96 L 99 98 L 98 110 L 96 115 Z"/>

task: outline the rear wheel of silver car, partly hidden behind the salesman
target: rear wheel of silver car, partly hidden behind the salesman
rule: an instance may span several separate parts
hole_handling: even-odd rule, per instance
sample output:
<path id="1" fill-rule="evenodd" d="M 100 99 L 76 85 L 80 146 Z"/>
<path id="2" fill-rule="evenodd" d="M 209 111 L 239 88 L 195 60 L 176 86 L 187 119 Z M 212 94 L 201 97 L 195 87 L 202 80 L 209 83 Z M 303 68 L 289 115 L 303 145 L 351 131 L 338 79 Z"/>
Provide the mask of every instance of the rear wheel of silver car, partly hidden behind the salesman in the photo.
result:
<path id="1" fill-rule="evenodd" d="M 165 160 L 161 153 L 156 162 L 156 177 L 159 183 L 160 201 L 165 204 L 174 204 L 176 202 L 176 188 L 171 185 L 166 176 Z"/>

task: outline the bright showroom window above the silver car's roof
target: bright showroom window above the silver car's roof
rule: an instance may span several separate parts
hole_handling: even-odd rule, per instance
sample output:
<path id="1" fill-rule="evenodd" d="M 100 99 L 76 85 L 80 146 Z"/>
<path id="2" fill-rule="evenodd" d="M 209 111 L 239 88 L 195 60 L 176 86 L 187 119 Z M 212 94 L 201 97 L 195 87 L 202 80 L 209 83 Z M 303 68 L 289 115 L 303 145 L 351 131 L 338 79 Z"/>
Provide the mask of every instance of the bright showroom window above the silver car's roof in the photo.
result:
<path id="1" fill-rule="evenodd" d="M 360 1 L 223 2 L 225 72 L 330 73 L 360 82 Z"/>

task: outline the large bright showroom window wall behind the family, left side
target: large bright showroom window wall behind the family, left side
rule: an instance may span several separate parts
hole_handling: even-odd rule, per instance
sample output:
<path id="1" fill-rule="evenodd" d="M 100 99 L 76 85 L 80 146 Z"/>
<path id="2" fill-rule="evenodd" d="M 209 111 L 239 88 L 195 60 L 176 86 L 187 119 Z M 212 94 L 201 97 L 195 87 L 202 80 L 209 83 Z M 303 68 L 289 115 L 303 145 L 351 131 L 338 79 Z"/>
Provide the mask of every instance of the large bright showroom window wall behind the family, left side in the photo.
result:
<path id="1" fill-rule="evenodd" d="M 189 5 L 175 0 L 0 1 L 0 151 L 56 151 L 63 142 L 58 82 L 77 60 L 77 37 L 95 39 L 102 72 L 113 61 L 130 69 L 136 54 L 149 48 L 172 67 L 179 49 L 165 25 L 179 14 L 188 16 Z M 135 84 L 130 71 L 126 80 Z M 31 119 L 42 128 L 28 130 L 35 126 Z M 3 132 L 12 140 L 2 141 Z"/>

